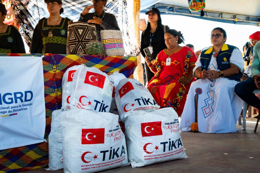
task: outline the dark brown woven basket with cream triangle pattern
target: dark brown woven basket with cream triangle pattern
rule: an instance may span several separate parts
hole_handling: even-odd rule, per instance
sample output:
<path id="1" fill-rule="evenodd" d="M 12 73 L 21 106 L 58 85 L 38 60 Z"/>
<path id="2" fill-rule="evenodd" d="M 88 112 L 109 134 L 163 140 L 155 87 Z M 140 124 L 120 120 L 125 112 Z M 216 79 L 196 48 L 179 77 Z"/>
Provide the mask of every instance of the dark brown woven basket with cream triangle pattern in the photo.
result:
<path id="1" fill-rule="evenodd" d="M 97 41 L 95 25 L 85 22 L 68 22 L 67 54 L 87 54 L 86 45 Z"/>

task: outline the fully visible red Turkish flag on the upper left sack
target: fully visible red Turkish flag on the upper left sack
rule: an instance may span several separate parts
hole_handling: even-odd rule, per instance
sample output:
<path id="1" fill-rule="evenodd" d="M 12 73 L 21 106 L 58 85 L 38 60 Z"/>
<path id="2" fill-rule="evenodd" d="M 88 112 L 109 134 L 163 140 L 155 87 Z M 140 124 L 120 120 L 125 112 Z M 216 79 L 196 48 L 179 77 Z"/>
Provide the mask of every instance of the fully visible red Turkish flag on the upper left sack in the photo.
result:
<path id="1" fill-rule="evenodd" d="M 103 89 L 105 80 L 106 76 L 91 71 L 87 71 L 84 83 L 97 86 Z"/>

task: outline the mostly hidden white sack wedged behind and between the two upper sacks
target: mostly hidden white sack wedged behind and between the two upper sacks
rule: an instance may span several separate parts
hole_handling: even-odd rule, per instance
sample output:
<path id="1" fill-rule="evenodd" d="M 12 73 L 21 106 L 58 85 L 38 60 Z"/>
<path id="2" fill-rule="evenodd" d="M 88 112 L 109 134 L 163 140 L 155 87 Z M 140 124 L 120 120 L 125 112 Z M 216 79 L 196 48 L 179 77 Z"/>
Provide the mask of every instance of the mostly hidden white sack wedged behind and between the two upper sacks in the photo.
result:
<path id="1" fill-rule="evenodd" d="M 115 103 L 115 88 L 118 85 L 119 81 L 121 79 L 125 79 L 125 75 L 122 73 L 119 73 L 118 71 L 115 71 L 113 74 L 110 74 L 110 77 L 113 79 L 114 81 L 114 87 L 113 87 L 113 94 L 112 94 L 112 101 L 111 101 L 111 107 L 110 107 L 110 113 L 119 115 L 118 109 L 116 107 L 116 103 Z"/>

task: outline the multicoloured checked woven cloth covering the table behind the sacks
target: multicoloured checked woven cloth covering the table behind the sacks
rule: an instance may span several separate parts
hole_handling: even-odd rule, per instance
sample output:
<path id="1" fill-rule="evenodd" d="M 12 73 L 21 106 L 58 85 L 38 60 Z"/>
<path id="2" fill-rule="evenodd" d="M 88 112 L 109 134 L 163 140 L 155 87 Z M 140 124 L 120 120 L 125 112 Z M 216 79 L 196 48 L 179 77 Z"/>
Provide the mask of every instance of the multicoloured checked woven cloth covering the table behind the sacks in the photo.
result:
<path id="1" fill-rule="evenodd" d="M 42 56 L 42 54 L 0 53 L 1 56 Z M 61 108 L 62 77 L 73 65 L 85 64 L 111 74 L 118 70 L 128 78 L 133 78 L 137 66 L 136 57 L 104 57 L 45 54 L 43 61 L 44 94 L 46 108 L 45 139 L 50 133 L 51 113 Z M 48 165 L 48 143 L 42 142 L 29 146 L 0 150 L 0 173 L 17 172 Z"/>

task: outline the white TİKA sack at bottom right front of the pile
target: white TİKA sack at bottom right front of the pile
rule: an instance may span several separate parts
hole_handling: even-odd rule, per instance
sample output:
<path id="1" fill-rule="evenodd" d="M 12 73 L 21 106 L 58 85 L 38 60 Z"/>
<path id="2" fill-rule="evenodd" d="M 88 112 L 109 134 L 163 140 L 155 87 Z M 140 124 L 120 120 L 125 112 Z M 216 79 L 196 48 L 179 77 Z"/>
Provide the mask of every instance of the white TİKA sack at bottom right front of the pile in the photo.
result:
<path id="1" fill-rule="evenodd" d="M 187 158 L 173 108 L 126 113 L 125 133 L 132 167 Z"/>

